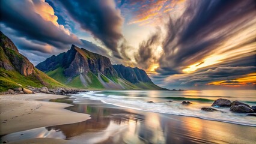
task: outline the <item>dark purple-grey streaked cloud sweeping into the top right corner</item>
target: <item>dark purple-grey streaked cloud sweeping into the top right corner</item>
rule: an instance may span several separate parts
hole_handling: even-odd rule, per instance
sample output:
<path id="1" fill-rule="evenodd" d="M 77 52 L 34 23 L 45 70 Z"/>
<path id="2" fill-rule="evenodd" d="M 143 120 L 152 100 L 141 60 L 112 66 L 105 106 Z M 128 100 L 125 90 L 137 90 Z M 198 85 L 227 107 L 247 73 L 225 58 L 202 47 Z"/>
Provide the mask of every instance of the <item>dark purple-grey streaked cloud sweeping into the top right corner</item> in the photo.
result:
<path id="1" fill-rule="evenodd" d="M 178 20 L 169 20 L 160 69 L 170 67 L 170 70 L 180 71 L 200 61 L 215 52 L 225 40 L 243 31 L 243 26 L 252 20 L 251 16 L 255 17 L 256 12 L 254 1 L 190 1 L 188 5 Z M 219 29 L 225 31 L 218 37 L 211 37 Z M 206 37 L 210 38 L 204 39 Z M 245 44 L 252 43 L 247 42 Z"/>

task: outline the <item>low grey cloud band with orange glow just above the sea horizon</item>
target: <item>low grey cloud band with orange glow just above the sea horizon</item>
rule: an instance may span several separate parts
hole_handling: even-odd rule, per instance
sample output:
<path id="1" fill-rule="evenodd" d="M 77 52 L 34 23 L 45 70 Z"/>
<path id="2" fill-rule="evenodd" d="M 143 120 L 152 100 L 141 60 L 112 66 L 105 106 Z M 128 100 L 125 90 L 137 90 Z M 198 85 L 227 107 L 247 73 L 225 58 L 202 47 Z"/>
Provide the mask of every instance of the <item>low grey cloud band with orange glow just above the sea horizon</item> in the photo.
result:
<path id="1" fill-rule="evenodd" d="M 192 88 L 200 86 L 205 88 L 209 86 L 251 86 L 256 84 L 256 67 L 218 67 L 198 73 L 174 74 L 169 77 L 159 77 L 162 85 L 171 88 Z"/>

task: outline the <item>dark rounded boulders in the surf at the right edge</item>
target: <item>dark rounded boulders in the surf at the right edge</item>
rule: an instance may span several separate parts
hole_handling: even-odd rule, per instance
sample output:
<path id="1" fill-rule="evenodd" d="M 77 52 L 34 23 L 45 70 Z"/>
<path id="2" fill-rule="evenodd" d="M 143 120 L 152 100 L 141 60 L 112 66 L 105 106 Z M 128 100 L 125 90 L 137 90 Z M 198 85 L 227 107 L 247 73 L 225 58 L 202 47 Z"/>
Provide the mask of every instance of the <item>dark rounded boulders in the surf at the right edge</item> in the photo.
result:
<path id="1" fill-rule="evenodd" d="M 213 107 L 230 107 L 231 112 L 236 113 L 255 113 L 256 112 L 256 106 L 249 106 L 248 104 L 242 103 L 240 101 L 233 101 L 219 98 L 218 100 L 215 100 L 212 104 Z M 201 110 L 207 111 L 207 112 L 214 112 L 218 111 L 217 109 L 213 109 L 212 107 L 203 107 Z M 251 114 L 249 114 L 251 115 Z M 255 116 L 254 114 L 252 116 Z"/>

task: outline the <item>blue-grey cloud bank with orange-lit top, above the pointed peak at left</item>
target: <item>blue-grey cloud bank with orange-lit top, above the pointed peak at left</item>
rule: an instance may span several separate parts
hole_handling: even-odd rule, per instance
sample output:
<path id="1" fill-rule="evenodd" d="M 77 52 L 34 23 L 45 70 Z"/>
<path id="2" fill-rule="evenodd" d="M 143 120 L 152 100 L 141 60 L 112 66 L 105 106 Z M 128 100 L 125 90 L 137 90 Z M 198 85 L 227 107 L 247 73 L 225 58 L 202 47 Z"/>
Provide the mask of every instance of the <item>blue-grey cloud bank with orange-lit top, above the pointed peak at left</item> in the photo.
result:
<path id="1" fill-rule="evenodd" d="M 65 27 L 59 24 L 55 10 L 44 0 L 1 1 L 0 11 L 1 31 L 10 37 L 20 52 L 28 56 L 34 64 L 50 55 L 70 49 L 72 44 L 109 56 L 109 52 L 103 47 L 72 34 L 72 28 L 69 27 L 72 24 L 70 20 L 66 21 L 66 17 L 63 19 L 64 16 L 61 16 L 63 23 L 66 23 Z M 61 10 L 58 8 L 58 11 Z M 34 61 L 33 55 L 41 56 L 40 61 Z"/>

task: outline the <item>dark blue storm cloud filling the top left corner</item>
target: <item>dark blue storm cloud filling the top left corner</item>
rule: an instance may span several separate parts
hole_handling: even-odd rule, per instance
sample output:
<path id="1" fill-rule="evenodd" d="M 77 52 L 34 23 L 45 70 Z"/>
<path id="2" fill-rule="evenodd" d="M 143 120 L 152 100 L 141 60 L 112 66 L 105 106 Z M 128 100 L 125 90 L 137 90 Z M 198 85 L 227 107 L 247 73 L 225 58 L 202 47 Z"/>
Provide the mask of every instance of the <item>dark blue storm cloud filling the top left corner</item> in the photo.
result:
<path id="1" fill-rule="evenodd" d="M 66 44 L 81 43 L 75 35 L 67 34 L 53 22 L 44 20 L 40 14 L 35 13 L 34 5 L 43 5 L 43 2 L 32 2 L 1 1 L 1 22 L 14 29 L 15 35 L 18 37 L 42 41 L 58 47 L 58 49 L 64 49 Z"/>

